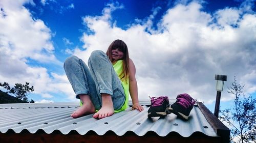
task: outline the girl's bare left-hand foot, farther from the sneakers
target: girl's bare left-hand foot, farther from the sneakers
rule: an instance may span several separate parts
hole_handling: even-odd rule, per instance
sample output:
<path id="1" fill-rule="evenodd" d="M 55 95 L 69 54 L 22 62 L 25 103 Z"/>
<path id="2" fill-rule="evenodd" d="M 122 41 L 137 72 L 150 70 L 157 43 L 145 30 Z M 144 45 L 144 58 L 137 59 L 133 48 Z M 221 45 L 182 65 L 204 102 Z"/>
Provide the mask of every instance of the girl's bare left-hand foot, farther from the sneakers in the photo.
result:
<path id="1" fill-rule="evenodd" d="M 88 95 L 82 95 L 80 96 L 80 99 L 83 101 L 83 105 L 71 114 L 71 117 L 73 118 L 78 118 L 95 112 L 95 107 Z"/>

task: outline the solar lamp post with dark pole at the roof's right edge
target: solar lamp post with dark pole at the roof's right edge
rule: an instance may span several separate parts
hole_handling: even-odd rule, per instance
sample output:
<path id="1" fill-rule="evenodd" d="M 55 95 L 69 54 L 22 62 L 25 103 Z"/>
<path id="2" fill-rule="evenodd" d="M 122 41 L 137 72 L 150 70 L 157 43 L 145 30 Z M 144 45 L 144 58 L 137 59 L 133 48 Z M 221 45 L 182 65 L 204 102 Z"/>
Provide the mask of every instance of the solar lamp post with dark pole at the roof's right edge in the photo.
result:
<path id="1" fill-rule="evenodd" d="M 219 110 L 220 110 L 221 92 L 223 91 L 224 81 L 227 81 L 227 76 L 216 74 L 215 80 L 217 80 L 217 82 L 216 82 L 217 95 L 216 95 L 214 115 L 218 118 Z"/>

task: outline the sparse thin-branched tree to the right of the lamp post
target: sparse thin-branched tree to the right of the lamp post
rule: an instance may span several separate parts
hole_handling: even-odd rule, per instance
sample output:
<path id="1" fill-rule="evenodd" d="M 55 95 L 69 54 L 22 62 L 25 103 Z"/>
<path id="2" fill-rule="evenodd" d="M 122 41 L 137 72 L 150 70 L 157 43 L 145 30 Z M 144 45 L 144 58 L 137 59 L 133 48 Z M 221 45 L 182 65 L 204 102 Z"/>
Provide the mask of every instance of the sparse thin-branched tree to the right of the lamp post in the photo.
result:
<path id="1" fill-rule="evenodd" d="M 228 93 L 233 94 L 234 106 L 220 110 L 220 119 L 231 126 L 231 141 L 234 137 L 239 138 L 239 142 L 256 142 L 256 99 L 252 96 L 246 97 L 243 93 L 244 85 L 237 83 L 236 76 L 232 86 L 228 88 Z"/>

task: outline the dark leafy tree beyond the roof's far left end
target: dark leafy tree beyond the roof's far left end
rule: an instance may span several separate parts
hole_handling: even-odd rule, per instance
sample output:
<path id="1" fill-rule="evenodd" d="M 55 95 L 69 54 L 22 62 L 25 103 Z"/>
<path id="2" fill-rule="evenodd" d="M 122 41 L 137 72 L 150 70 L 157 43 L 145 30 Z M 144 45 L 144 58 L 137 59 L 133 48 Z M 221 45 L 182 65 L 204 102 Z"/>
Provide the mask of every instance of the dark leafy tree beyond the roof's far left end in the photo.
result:
<path id="1" fill-rule="evenodd" d="M 14 96 L 16 96 L 17 99 L 20 99 L 28 103 L 35 102 L 34 100 L 28 101 L 27 98 L 34 91 L 33 85 L 30 87 L 29 82 L 26 82 L 26 84 L 15 83 L 15 86 L 13 88 L 11 88 L 9 83 L 7 82 L 0 82 L 0 86 L 7 90 L 7 94 L 13 94 Z"/>

